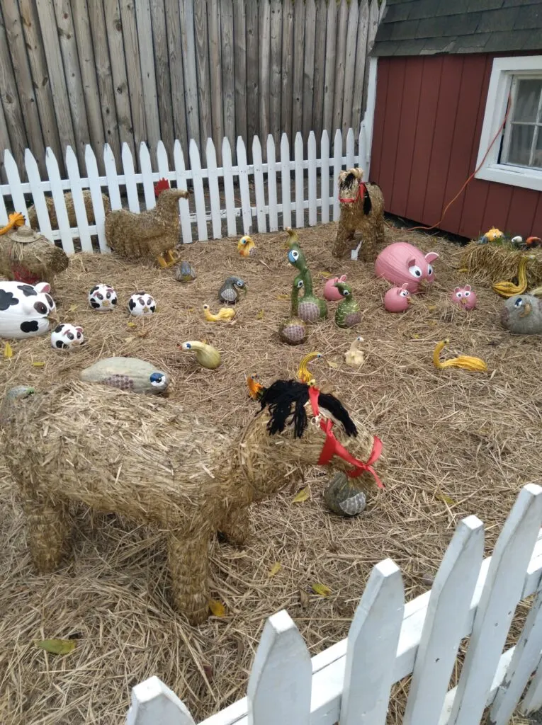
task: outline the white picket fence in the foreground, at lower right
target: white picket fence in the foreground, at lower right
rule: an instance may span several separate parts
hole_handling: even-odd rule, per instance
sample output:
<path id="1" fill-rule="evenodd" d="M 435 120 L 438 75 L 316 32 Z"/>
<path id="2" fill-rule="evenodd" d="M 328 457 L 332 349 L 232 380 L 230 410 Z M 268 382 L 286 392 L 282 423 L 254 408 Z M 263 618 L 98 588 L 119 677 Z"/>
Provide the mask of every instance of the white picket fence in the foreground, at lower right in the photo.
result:
<path id="1" fill-rule="evenodd" d="M 524 486 L 493 556 L 467 516 L 430 592 L 405 603 L 401 571 L 373 568 L 347 639 L 311 659 L 287 612 L 263 629 L 247 697 L 201 725 L 385 725 L 390 689 L 412 674 L 403 725 L 491 725 L 542 706 L 542 488 Z M 535 594 L 517 644 L 503 653 L 514 610 Z M 459 683 L 449 689 L 461 639 L 470 635 Z M 531 675 L 534 673 L 532 679 Z M 528 687 L 527 687 L 528 686 Z M 153 676 L 132 690 L 126 725 L 194 725 Z"/>

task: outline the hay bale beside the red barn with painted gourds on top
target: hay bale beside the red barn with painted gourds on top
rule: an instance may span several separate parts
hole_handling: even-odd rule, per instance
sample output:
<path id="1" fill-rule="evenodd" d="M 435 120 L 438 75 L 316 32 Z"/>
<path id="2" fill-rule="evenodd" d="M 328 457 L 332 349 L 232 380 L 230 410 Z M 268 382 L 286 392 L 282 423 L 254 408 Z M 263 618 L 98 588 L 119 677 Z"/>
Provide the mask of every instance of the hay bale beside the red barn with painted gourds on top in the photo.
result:
<path id="1" fill-rule="evenodd" d="M 472 241 L 461 254 L 461 265 L 483 281 L 512 281 L 522 257 L 527 256 L 527 287 L 542 285 L 542 249 L 524 252 L 505 244 L 478 244 Z"/>

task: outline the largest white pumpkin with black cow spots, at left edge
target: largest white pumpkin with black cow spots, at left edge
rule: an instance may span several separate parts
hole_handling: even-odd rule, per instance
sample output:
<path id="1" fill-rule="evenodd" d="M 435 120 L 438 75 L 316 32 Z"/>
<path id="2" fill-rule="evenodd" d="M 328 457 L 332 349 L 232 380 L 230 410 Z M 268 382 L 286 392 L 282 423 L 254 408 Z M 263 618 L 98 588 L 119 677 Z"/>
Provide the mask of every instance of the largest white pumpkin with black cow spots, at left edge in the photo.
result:
<path id="1" fill-rule="evenodd" d="M 56 310 L 50 291 L 46 282 L 0 281 L 0 337 L 20 340 L 48 332 L 47 318 Z"/>

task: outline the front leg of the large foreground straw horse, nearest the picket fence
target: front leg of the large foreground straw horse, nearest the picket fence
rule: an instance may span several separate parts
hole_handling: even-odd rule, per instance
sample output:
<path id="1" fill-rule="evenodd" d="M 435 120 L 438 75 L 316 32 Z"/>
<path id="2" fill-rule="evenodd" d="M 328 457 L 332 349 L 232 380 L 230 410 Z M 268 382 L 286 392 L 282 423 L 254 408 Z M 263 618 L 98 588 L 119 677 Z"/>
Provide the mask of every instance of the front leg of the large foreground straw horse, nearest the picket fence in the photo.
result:
<path id="1" fill-rule="evenodd" d="M 202 624 L 209 616 L 209 538 L 205 529 L 189 539 L 171 531 L 168 539 L 173 600 L 192 625 Z"/>

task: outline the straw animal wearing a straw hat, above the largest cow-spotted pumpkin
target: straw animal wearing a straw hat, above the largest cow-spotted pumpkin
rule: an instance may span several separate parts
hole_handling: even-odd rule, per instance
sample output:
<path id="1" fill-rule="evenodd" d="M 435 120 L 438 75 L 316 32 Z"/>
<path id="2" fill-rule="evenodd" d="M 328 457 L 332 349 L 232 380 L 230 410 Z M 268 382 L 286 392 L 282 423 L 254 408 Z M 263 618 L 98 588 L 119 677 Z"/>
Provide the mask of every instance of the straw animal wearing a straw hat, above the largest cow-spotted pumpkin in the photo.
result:
<path id="1" fill-rule="evenodd" d="M 9 280 L 27 284 L 48 282 L 54 288 L 54 276 L 67 269 L 64 250 L 28 226 L 0 236 L 0 274 Z"/>

